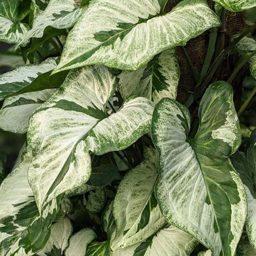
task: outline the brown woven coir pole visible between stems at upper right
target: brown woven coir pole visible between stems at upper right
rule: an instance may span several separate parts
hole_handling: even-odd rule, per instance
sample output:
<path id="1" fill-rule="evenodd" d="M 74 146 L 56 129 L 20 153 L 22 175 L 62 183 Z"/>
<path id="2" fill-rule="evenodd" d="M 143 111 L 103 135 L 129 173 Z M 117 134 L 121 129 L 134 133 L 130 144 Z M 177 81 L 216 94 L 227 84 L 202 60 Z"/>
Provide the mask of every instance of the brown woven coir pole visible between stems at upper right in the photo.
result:
<path id="1" fill-rule="evenodd" d="M 180 0 L 169 0 L 167 3 L 166 12 L 170 12 Z M 214 10 L 214 2 L 211 0 L 207 1 L 210 8 Z M 225 47 L 230 43 L 232 35 L 241 32 L 244 26 L 245 12 L 226 12 L 226 27 L 225 27 Z M 217 38 L 218 40 L 218 38 Z M 185 46 L 187 54 L 194 65 L 194 67 L 201 72 L 204 59 L 207 53 L 209 41 L 209 31 L 203 33 L 199 37 L 191 39 Z M 193 92 L 195 88 L 195 80 L 193 79 L 192 73 L 190 72 L 187 61 L 184 57 L 184 53 L 181 47 L 177 47 L 177 57 L 181 67 L 181 77 L 178 87 L 177 100 L 185 103 L 190 96 L 190 92 Z M 222 67 L 219 74 L 214 77 L 214 80 L 227 80 L 230 72 L 235 66 L 237 61 L 236 55 L 231 55 L 229 58 L 222 62 Z M 214 82 L 214 80 L 212 82 Z"/>

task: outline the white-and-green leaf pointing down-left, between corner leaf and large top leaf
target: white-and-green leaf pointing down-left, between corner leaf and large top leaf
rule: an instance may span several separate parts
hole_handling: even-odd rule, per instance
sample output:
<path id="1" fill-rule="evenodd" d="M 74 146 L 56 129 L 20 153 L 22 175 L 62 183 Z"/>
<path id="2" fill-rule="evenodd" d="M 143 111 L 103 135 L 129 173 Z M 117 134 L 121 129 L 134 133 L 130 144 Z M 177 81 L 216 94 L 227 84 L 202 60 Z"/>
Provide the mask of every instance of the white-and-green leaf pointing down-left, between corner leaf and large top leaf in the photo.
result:
<path id="1" fill-rule="evenodd" d="M 32 37 L 43 37 L 47 27 L 63 29 L 74 25 L 81 13 L 75 0 L 50 0 L 46 9 L 35 17 L 32 28 L 25 33 L 19 45 Z"/>

